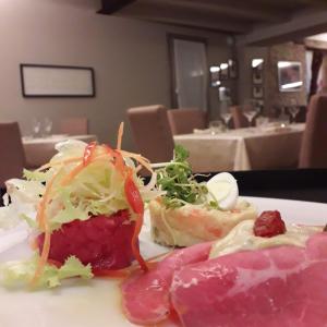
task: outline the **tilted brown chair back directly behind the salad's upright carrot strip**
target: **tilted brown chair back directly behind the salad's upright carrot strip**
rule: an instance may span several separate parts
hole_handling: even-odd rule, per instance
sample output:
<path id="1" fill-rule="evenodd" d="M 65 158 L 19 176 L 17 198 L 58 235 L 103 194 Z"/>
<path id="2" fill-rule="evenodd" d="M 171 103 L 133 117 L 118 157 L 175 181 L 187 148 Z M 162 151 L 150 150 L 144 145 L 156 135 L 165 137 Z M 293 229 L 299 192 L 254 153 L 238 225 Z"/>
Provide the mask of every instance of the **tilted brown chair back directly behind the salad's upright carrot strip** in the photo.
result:
<path id="1" fill-rule="evenodd" d="M 173 138 L 167 109 L 155 105 L 128 110 L 138 152 L 152 162 L 166 162 L 173 156 Z"/>

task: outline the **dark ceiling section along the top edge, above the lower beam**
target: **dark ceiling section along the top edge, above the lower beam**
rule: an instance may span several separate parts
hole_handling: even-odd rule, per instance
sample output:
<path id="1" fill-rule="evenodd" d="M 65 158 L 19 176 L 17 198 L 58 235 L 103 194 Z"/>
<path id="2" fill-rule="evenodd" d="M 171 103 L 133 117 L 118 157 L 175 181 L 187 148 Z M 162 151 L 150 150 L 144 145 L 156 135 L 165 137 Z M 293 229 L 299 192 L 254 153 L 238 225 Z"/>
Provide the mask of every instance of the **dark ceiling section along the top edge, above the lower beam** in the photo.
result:
<path id="1" fill-rule="evenodd" d="M 282 23 L 304 10 L 327 9 L 327 0 L 102 0 L 100 13 L 158 23 L 246 34 Z"/>

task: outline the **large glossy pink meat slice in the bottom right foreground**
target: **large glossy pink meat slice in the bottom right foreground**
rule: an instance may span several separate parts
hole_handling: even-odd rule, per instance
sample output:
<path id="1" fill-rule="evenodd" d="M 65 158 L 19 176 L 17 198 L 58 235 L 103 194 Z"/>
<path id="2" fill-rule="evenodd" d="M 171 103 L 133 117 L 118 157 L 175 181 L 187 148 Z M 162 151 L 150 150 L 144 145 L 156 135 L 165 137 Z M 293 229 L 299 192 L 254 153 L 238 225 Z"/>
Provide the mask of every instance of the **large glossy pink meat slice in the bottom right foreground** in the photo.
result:
<path id="1" fill-rule="evenodd" d="M 327 326 L 327 233 L 189 265 L 170 291 L 187 327 Z"/>

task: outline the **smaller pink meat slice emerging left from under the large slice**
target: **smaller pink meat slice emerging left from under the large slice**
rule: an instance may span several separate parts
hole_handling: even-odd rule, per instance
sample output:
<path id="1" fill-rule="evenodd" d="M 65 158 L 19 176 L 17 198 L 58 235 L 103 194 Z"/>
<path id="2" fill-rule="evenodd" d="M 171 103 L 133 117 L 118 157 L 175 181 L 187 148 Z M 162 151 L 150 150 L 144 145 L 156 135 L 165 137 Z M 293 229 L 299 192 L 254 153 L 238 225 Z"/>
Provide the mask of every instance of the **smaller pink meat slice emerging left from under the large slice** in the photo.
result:
<path id="1" fill-rule="evenodd" d="M 155 269 L 137 272 L 122 284 L 123 308 L 130 322 L 147 325 L 164 320 L 170 314 L 169 288 L 172 275 L 184 265 L 206 261 L 211 243 L 174 251 Z"/>

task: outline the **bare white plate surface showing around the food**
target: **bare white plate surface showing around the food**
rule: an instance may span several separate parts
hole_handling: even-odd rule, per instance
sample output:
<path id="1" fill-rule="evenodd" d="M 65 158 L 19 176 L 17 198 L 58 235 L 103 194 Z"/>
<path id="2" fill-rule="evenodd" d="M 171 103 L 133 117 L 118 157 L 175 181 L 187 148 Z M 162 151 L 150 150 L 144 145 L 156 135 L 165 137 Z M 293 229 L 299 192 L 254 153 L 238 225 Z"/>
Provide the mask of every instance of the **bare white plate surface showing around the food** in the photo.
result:
<path id="1" fill-rule="evenodd" d="M 247 197 L 262 210 L 279 210 L 291 223 L 325 225 L 327 204 Z M 153 256 L 167 251 L 149 239 L 146 221 L 141 235 L 142 251 Z M 15 249 L 17 254 L 20 250 Z M 9 253 L 7 253 L 7 256 Z M 0 255 L 1 259 L 1 255 Z M 93 280 L 65 284 L 38 292 L 7 291 L 0 288 L 0 326 L 2 327 L 123 327 L 134 326 L 123 316 L 119 281 Z"/>

